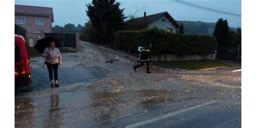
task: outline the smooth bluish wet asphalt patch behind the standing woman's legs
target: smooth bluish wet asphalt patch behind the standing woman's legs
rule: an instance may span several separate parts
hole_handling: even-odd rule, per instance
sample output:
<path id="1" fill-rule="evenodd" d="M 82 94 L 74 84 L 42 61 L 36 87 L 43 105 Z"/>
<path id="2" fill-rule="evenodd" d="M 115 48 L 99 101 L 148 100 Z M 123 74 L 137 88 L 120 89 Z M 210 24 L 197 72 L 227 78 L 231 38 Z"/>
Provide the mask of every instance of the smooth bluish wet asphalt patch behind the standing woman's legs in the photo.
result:
<path id="1" fill-rule="evenodd" d="M 59 85 L 68 86 L 71 84 L 90 82 L 91 79 L 105 77 L 109 71 L 99 66 L 90 66 L 86 68 L 60 67 L 58 69 Z M 35 92 L 49 89 L 50 80 L 48 70 L 31 69 L 32 83 L 31 86 L 22 87 L 22 92 Z"/>

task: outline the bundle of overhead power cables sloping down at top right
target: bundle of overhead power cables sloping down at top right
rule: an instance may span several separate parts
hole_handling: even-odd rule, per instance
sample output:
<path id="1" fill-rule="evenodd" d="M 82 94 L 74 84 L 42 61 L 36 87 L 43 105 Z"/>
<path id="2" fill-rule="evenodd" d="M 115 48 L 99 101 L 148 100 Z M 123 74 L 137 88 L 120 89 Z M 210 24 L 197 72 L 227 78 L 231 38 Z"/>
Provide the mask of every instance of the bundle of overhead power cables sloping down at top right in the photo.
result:
<path id="1" fill-rule="evenodd" d="M 175 3 L 178 3 L 178 4 L 183 4 L 183 5 L 191 6 L 193 8 L 201 9 L 201 10 L 212 11 L 212 12 L 216 12 L 216 13 L 224 14 L 224 15 L 231 15 L 231 16 L 241 17 L 241 14 L 234 14 L 232 12 L 227 12 L 227 11 L 217 10 L 217 9 L 213 9 L 213 8 L 208 8 L 206 6 L 201 6 L 201 5 L 198 5 L 198 4 L 191 3 L 191 2 L 185 2 L 183 0 L 171 0 L 171 1 L 175 2 Z"/>

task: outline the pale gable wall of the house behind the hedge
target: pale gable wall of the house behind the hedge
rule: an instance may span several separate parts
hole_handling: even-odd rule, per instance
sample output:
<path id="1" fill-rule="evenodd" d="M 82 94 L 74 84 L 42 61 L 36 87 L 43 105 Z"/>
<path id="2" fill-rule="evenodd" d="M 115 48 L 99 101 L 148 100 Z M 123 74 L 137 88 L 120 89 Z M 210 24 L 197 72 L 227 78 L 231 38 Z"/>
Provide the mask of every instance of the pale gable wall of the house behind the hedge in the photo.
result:
<path id="1" fill-rule="evenodd" d="M 165 22 L 162 22 L 162 19 L 165 19 Z M 148 28 L 154 28 L 157 27 L 158 29 L 164 29 L 164 30 L 168 30 L 167 28 L 171 28 L 172 33 L 176 33 L 177 29 L 175 28 L 175 26 L 172 24 L 172 22 L 169 21 L 169 19 L 167 19 L 166 16 L 162 16 L 160 18 L 158 18 L 156 21 L 152 22 L 151 24 L 148 25 Z"/>

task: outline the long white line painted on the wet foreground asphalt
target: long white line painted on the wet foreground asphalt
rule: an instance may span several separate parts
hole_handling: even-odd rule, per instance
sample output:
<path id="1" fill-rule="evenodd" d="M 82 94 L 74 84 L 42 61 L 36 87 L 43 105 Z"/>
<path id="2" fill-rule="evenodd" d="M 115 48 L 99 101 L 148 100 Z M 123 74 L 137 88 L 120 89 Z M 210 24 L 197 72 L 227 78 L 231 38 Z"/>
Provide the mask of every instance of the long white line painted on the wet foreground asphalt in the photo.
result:
<path id="1" fill-rule="evenodd" d="M 161 120 L 161 119 L 164 119 L 164 118 L 167 118 L 167 117 L 171 117 L 171 116 L 174 116 L 176 114 L 183 113 L 183 112 L 186 112 L 186 111 L 190 111 L 190 110 L 193 110 L 193 109 L 197 109 L 198 107 L 203 107 L 203 106 L 215 103 L 215 102 L 217 102 L 217 100 L 213 100 L 211 102 L 207 102 L 207 103 L 204 103 L 204 104 L 199 104 L 199 105 L 196 105 L 196 106 L 188 107 L 186 109 L 180 109 L 180 110 L 177 110 L 177 111 L 174 111 L 174 112 L 171 112 L 171 113 L 167 113 L 164 116 L 159 116 L 159 117 L 156 117 L 156 118 L 153 118 L 153 119 L 150 119 L 150 120 L 145 120 L 143 122 L 138 122 L 138 123 L 135 123 L 135 124 L 127 125 L 127 126 L 125 126 L 125 128 L 138 127 L 138 126 L 142 126 L 142 125 L 149 124 L 149 123 L 152 123 L 152 122 L 156 122 L 158 120 Z"/>

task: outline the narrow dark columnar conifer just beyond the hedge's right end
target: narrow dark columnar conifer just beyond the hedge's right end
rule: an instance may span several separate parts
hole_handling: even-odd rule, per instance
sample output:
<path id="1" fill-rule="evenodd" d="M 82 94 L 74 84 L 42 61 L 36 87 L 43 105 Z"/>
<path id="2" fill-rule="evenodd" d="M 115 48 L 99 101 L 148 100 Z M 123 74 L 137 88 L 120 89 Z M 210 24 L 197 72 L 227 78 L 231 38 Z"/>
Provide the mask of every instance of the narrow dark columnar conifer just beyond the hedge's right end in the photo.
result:
<path id="1" fill-rule="evenodd" d="M 229 39 L 229 29 L 227 20 L 220 18 L 215 25 L 213 36 L 216 38 L 217 43 L 217 58 L 225 59 L 227 54 L 227 46 Z"/>

